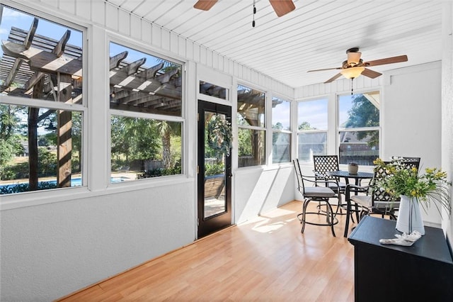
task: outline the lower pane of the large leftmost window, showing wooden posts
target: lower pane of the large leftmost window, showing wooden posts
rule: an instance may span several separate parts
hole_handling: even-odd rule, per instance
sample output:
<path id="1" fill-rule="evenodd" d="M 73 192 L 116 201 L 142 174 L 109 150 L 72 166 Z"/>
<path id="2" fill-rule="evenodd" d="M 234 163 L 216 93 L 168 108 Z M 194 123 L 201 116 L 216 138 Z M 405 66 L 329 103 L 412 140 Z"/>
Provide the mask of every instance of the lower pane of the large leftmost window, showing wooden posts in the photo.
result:
<path id="1" fill-rule="evenodd" d="M 82 114 L 0 104 L 0 193 L 81 186 Z"/>

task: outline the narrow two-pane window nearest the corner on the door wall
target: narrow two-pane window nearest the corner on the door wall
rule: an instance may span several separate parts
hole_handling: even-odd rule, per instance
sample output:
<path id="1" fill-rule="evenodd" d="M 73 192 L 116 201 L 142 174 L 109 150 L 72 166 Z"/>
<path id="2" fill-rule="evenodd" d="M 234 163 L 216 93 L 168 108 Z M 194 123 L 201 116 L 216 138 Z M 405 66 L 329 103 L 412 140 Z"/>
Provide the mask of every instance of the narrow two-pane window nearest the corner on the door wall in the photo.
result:
<path id="1" fill-rule="evenodd" d="M 291 161 L 291 103 L 272 98 L 272 160 Z"/>

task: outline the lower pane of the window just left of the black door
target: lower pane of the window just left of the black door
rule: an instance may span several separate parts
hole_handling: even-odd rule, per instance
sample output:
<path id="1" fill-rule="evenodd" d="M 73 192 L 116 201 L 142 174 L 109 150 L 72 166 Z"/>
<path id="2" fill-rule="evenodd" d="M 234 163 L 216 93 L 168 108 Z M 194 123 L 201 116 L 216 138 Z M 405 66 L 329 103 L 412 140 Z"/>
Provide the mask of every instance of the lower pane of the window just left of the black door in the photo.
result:
<path id="1" fill-rule="evenodd" d="M 181 174 L 180 122 L 112 116 L 111 182 Z"/>

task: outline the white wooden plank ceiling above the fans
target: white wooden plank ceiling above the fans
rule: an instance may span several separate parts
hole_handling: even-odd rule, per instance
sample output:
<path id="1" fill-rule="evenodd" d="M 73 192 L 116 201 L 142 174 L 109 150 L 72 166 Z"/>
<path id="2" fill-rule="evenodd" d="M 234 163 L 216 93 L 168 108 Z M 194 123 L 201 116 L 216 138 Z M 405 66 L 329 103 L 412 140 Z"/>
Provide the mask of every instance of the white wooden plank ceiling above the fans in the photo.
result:
<path id="1" fill-rule="evenodd" d="M 105 0 L 231 60 L 292 87 L 326 81 L 345 51 L 360 47 L 364 61 L 408 55 L 377 72 L 441 60 L 442 1 L 294 0 L 280 18 L 268 0 L 219 0 L 210 11 L 196 0 Z"/>

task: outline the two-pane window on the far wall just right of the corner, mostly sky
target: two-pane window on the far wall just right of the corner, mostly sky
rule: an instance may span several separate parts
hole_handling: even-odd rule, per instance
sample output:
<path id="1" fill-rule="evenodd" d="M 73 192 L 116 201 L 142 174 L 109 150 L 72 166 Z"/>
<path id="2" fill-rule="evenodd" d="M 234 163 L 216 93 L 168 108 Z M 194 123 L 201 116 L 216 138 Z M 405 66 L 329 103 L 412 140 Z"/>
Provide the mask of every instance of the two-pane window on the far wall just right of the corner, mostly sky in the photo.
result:
<path id="1" fill-rule="evenodd" d="M 301 161 L 313 160 L 313 155 L 327 154 L 327 99 L 300 101 L 297 110 L 297 148 Z"/>

